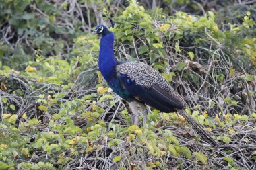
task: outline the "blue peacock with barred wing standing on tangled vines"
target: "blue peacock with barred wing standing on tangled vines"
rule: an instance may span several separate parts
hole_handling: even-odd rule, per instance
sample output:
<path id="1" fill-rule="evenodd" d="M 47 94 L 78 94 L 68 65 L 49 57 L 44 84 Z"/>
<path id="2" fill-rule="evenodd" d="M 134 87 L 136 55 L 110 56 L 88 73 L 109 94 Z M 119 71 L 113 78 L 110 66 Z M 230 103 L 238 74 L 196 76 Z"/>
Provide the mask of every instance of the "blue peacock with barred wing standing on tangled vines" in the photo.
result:
<path id="1" fill-rule="evenodd" d="M 114 26 L 111 19 L 110 22 Z M 102 35 L 98 67 L 111 89 L 129 103 L 132 124 L 139 123 L 138 107 L 143 113 L 143 124 L 147 120 L 146 105 L 166 113 L 179 111 L 206 142 L 218 145 L 185 112 L 187 103 L 158 71 L 143 62 L 117 60 L 113 52 L 114 34 L 103 24 L 96 26 L 92 34 Z"/>

